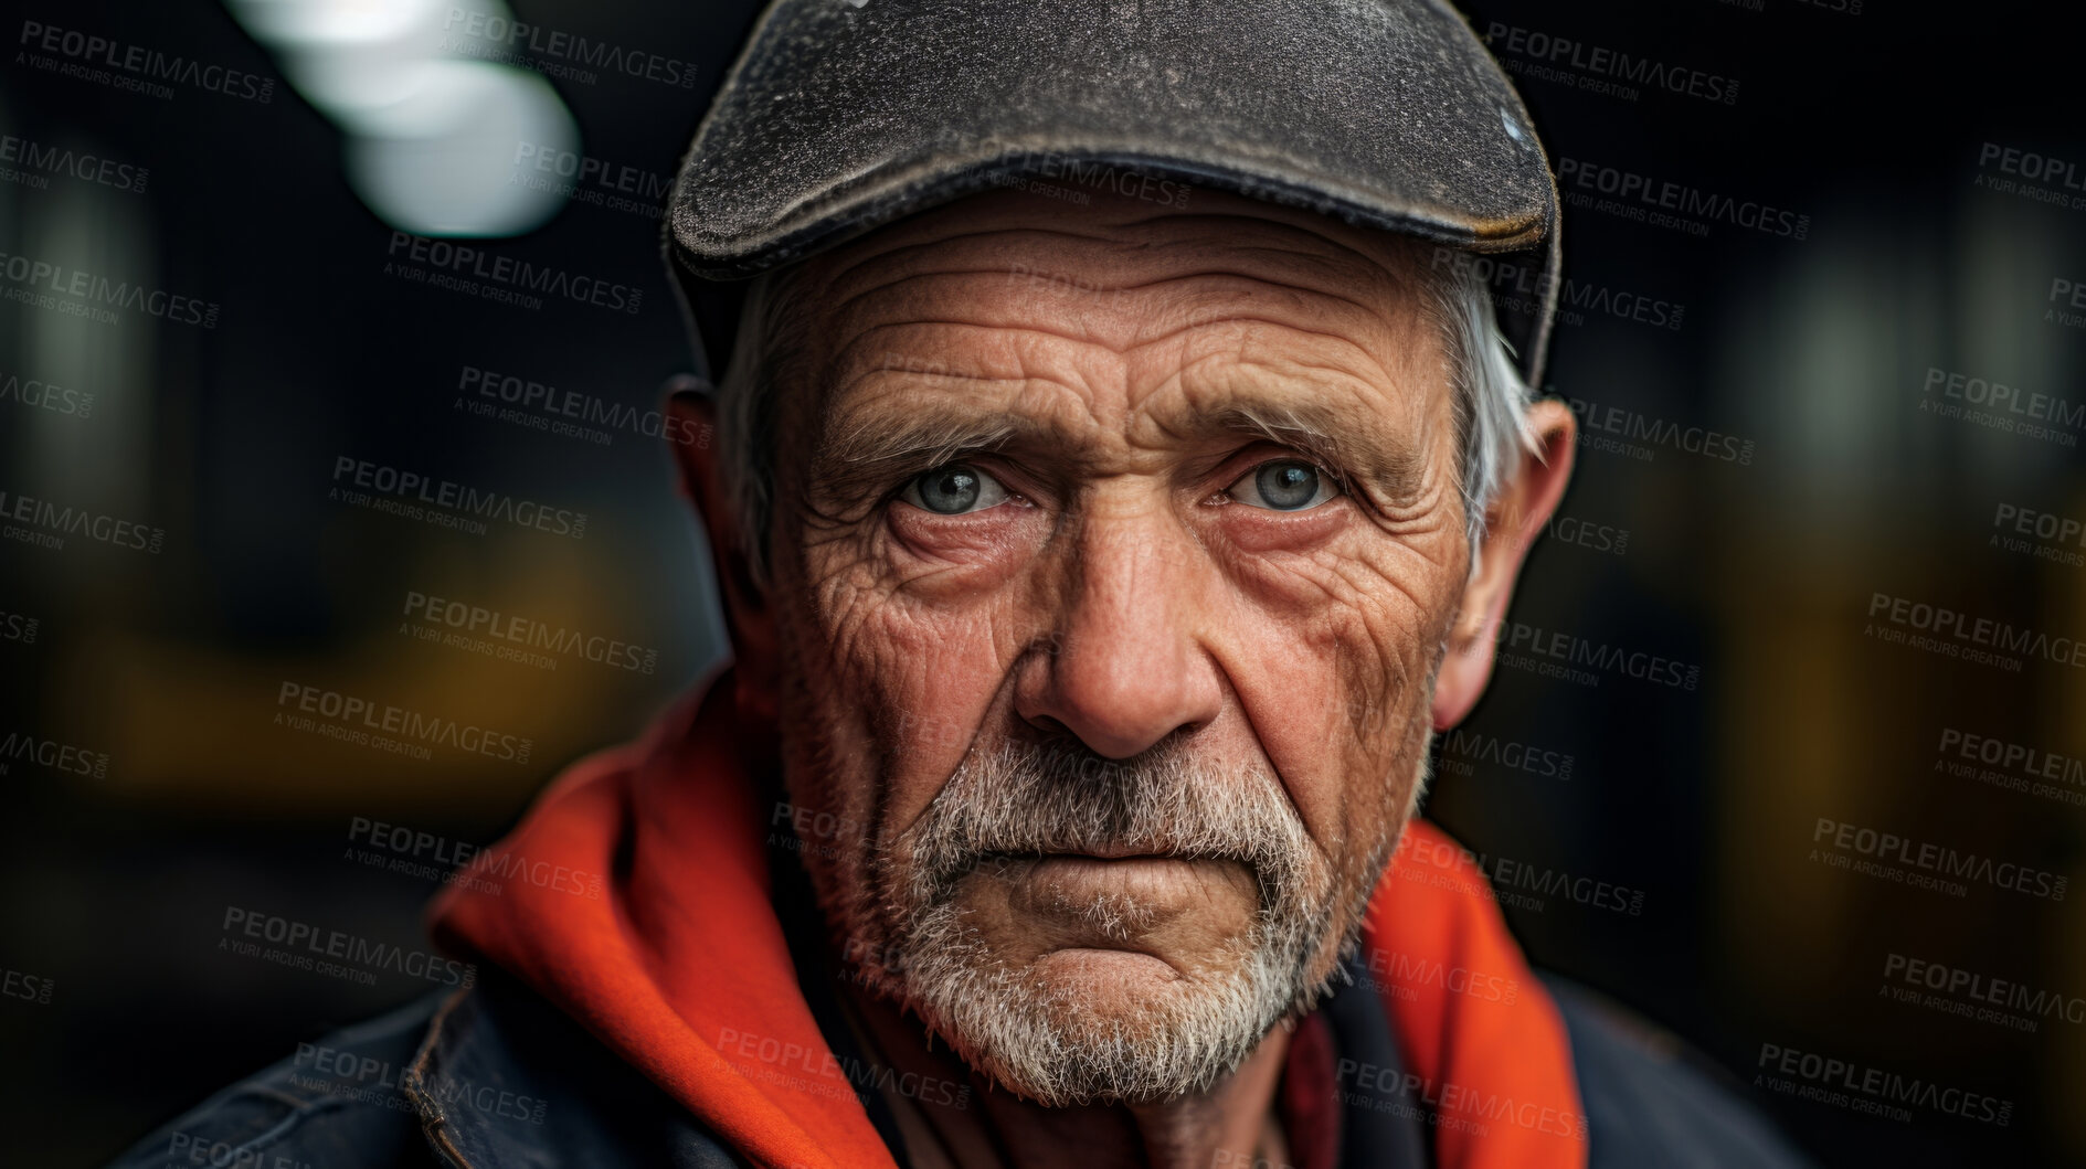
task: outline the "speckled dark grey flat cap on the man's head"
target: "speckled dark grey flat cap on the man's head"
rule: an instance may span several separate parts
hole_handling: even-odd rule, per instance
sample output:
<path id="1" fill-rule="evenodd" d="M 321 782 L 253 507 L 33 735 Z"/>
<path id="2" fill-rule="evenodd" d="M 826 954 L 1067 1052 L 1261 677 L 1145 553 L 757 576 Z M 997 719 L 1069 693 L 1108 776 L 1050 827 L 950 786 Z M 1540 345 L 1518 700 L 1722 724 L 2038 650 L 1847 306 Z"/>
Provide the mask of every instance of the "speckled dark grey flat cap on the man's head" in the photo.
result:
<path id="1" fill-rule="evenodd" d="M 670 202 L 711 369 L 738 294 L 707 281 L 1037 171 L 1527 252 L 1537 308 L 1500 325 L 1539 381 L 1556 183 L 1498 63 L 1431 0 L 776 0 Z"/>

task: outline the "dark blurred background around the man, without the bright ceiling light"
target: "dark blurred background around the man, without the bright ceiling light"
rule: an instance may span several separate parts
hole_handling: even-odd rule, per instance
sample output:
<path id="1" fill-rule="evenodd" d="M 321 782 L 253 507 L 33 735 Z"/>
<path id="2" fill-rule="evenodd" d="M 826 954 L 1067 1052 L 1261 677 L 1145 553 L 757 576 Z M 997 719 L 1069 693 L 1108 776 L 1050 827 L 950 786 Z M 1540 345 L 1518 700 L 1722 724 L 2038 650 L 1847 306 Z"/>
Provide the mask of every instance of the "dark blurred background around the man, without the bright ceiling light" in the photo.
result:
<path id="1" fill-rule="evenodd" d="M 417 944 L 438 884 L 361 863 L 355 825 L 486 844 L 563 763 L 628 738 L 718 661 L 707 558 L 661 442 L 640 423 L 597 425 L 601 444 L 480 417 L 463 383 L 494 371 L 642 415 L 665 377 L 701 369 L 647 190 L 753 6 L 513 0 L 540 29 L 695 73 L 507 46 L 632 202 L 580 194 L 482 248 L 640 292 L 634 313 L 401 273 L 411 256 L 346 177 L 371 163 L 305 96 L 323 69 L 248 35 L 280 33 L 284 4 L 6 8 L 0 513 L 29 496 L 119 536 L 52 548 L 21 513 L 0 540 L 0 1161 L 92 1165 L 428 988 L 221 950 L 227 906 Z M 2078 529 L 2034 533 L 2036 515 L 2086 519 L 2086 306 L 2059 283 L 2086 283 L 2078 29 L 2028 4 L 1469 13 L 1564 171 L 1569 315 L 1546 390 L 1587 440 L 1514 602 L 1519 656 L 1444 744 L 1429 815 L 1489 873 L 1642 894 L 1627 913 L 1525 892 L 1506 913 L 1539 965 L 1692 1040 L 1823 1163 L 2086 1163 L 2086 777 L 2069 763 L 2086 756 L 2086 673 L 1934 652 L 1888 621 L 1902 598 L 2086 636 Z M 52 27 L 117 44 L 117 60 L 142 46 L 250 79 L 140 90 L 46 42 Z M 1617 54 L 1658 71 L 1619 79 Z M 148 179 L 52 169 L 52 150 Z M 1677 188 L 1671 219 L 1625 183 Z M 83 296 L 33 300 L 17 258 L 200 304 L 81 315 Z M 2017 411 L 2030 394 L 2069 411 L 2028 429 L 1980 404 L 1982 383 L 2017 388 Z M 584 540 L 332 498 L 342 456 L 586 513 Z M 426 642 L 411 594 L 613 638 L 655 669 Z M 1554 633 L 1694 681 L 1548 677 L 1529 646 Z M 526 736 L 530 761 L 323 738 L 277 721 L 284 683 Z M 2019 750 L 1971 767 L 1971 736 Z M 1821 819 L 2026 865 L 2076 896 L 1850 871 L 1834 854 L 1863 856 L 1815 840 Z M 2071 1006 L 2023 1027 L 1925 992 L 1902 1002 L 1892 954 Z M 2005 1123 L 1802 1098 L 1763 1077 L 1765 1046 L 1992 1096 Z"/>

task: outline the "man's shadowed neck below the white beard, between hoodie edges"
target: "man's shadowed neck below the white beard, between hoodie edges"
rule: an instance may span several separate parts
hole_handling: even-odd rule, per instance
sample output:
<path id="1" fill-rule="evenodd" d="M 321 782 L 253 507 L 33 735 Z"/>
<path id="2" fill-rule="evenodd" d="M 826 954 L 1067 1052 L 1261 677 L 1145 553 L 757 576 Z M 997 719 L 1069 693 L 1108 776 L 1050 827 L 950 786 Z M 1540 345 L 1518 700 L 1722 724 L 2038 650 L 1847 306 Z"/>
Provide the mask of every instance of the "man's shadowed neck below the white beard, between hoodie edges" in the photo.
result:
<path id="1" fill-rule="evenodd" d="M 1254 1054 L 1208 1092 L 1151 1104 L 1049 1109 L 978 1075 L 945 1044 L 932 1044 L 916 1017 L 851 981 L 841 996 L 878 1063 L 970 1084 L 962 1109 L 893 1100 L 920 1169 L 1210 1169 L 1287 1161 L 1275 1115 L 1275 1090 L 1289 1052 L 1287 1025 L 1268 1031 Z"/>

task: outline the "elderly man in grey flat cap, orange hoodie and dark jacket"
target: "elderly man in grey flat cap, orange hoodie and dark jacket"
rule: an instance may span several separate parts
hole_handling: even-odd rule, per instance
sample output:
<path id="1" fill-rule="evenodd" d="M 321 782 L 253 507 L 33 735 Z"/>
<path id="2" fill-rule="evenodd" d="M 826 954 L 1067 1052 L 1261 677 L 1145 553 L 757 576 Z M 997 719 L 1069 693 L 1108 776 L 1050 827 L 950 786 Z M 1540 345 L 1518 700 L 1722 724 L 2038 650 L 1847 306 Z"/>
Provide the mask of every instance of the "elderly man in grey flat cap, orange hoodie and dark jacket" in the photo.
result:
<path id="1" fill-rule="evenodd" d="M 603 896 L 459 884 L 480 986 L 138 1163 L 1786 1163 L 1412 821 L 1571 469 L 1473 263 L 1554 221 L 1418 0 L 778 4 L 670 238 L 734 665 L 490 852 Z"/>

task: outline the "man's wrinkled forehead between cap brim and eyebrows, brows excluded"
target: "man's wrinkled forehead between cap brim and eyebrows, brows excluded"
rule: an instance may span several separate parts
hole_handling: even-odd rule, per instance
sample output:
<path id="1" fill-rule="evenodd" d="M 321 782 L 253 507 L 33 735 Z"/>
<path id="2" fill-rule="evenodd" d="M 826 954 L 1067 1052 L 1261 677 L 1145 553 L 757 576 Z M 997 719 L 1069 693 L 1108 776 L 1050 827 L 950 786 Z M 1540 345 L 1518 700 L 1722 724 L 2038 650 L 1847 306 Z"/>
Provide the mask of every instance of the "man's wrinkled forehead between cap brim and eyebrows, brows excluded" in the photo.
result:
<path id="1" fill-rule="evenodd" d="M 807 263 L 824 392 L 803 404 L 889 371 L 1078 379 L 1120 358 L 1164 381 L 1247 350 L 1383 390 L 1444 383 L 1418 240 L 1220 192 L 1076 194 L 987 192 Z"/>

